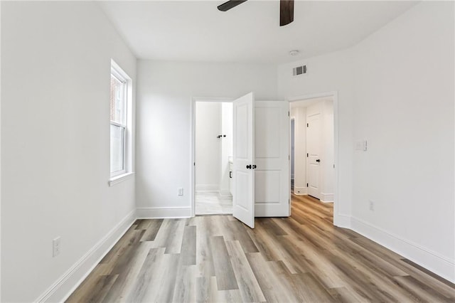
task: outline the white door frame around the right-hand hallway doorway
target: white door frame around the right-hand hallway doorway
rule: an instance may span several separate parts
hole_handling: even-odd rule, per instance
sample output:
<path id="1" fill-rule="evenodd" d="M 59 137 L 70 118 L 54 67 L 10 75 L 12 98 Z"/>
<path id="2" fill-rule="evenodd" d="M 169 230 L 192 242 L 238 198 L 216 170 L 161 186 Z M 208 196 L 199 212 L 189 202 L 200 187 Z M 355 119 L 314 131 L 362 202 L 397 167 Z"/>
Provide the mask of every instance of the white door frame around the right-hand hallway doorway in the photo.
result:
<path id="1" fill-rule="evenodd" d="M 338 205 L 338 91 L 333 90 L 330 92 L 320 92 L 316 94 L 309 94 L 309 95 L 300 95 L 295 97 L 289 97 L 289 111 L 291 110 L 291 103 L 296 101 L 302 100 L 310 100 L 316 99 L 321 97 L 331 97 L 333 100 L 333 164 L 335 165 L 335 180 L 333 184 L 333 225 L 338 226 L 340 223 L 340 213 L 339 213 L 339 205 Z M 290 122 L 289 122 L 290 127 Z M 290 140 L 289 140 L 290 141 Z M 289 146 L 289 149 L 291 147 Z M 290 150 L 289 150 L 290 152 Z M 289 169 L 289 177 L 291 175 Z M 290 188 L 290 186 L 289 186 Z M 291 194 L 291 193 L 290 193 Z"/>

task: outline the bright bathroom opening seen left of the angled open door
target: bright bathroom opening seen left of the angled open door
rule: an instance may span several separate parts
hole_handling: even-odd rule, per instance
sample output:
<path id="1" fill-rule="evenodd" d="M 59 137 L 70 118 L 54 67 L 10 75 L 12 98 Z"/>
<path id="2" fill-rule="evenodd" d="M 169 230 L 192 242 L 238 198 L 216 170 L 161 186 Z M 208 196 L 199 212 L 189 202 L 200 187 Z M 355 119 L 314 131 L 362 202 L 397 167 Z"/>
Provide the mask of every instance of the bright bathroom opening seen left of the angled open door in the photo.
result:
<path id="1" fill-rule="evenodd" d="M 195 102 L 195 215 L 232 214 L 232 102 Z"/>

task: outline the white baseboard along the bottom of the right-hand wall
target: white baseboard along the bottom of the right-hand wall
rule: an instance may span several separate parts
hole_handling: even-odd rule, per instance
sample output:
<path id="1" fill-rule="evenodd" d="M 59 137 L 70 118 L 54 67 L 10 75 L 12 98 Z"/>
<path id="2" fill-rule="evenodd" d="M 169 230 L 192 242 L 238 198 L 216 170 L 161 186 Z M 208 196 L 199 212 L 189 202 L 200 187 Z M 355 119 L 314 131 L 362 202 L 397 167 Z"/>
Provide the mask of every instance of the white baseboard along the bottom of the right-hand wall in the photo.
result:
<path id="1" fill-rule="evenodd" d="M 389 233 L 358 218 L 351 218 L 351 229 L 411 260 L 435 274 L 455 283 L 455 260 Z"/>

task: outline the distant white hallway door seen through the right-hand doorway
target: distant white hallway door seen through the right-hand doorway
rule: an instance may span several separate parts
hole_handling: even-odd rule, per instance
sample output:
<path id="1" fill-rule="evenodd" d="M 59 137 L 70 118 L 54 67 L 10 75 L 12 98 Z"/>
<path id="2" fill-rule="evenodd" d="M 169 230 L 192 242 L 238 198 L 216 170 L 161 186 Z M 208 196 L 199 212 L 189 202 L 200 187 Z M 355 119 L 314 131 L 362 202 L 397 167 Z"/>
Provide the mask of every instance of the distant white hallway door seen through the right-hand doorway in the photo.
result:
<path id="1" fill-rule="evenodd" d="M 321 112 L 319 110 L 313 112 L 308 107 L 306 122 L 306 180 L 308 180 L 308 194 L 315 198 L 321 198 Z"/>

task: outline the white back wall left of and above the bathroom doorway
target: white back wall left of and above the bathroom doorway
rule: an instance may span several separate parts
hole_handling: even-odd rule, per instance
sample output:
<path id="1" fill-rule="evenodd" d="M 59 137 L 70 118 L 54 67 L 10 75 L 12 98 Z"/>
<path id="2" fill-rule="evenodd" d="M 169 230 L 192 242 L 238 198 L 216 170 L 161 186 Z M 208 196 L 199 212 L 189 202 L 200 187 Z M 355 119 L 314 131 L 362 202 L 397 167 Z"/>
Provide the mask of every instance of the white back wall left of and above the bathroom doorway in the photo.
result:
<path id="1" fill-rule="evenodd" d="M 276 99 L 276 66 L 139 60 L 138 79 L 139 216 L 191 216 L 192 98 L 254 91 L 257 100 Z"/>

